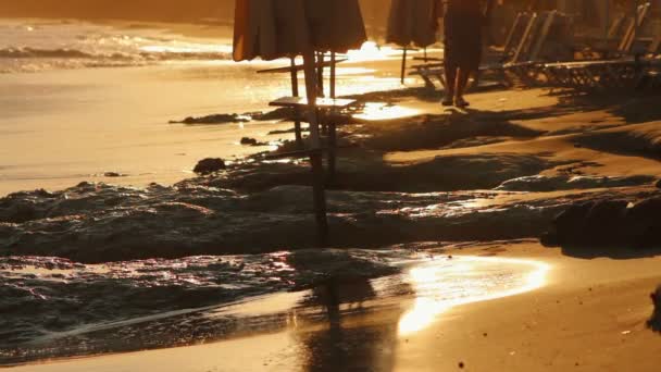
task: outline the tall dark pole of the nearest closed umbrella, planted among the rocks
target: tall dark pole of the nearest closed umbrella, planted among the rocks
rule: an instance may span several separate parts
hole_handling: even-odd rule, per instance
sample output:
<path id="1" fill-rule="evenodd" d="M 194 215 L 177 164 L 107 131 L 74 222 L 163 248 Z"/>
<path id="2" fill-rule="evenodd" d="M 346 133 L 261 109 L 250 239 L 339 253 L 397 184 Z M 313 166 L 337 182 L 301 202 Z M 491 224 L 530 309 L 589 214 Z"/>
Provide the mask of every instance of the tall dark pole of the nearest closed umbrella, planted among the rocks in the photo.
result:
<path id="1" fill-rule="evenodd" d="M 305 92 L 308 96 L 308 114 L 310 122 L 310 145 L 312 153 L 310 163 L 312 165 L 312 194 L 314 202 L 314 215 L 316 219 L 317 237 L 320 246 L 325 246 L 328 237 L 328 218 L 326 215 L 326 193 L 324 179 L 324 164 L 320 140 L 320 128 L 316 112 L 316 83 L 314 51 L 303 53 L 303 70 L 305 73 Z"/>

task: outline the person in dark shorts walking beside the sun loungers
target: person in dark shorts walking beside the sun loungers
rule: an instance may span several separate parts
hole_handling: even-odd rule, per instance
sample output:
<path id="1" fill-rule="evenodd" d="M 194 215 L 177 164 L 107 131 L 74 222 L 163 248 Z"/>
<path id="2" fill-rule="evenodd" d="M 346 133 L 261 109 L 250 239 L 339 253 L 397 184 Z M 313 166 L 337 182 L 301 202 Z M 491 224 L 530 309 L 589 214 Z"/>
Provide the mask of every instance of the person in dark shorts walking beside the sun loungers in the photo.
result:
<path id="1" fill-rule="evenodd" d="M 444 17 L 447 89 L 442 106 L 469 106 L 463 94 L 471 75 L 479 71 L 483 33 L 492 8 L 494 0 L 447 0 Z"/>

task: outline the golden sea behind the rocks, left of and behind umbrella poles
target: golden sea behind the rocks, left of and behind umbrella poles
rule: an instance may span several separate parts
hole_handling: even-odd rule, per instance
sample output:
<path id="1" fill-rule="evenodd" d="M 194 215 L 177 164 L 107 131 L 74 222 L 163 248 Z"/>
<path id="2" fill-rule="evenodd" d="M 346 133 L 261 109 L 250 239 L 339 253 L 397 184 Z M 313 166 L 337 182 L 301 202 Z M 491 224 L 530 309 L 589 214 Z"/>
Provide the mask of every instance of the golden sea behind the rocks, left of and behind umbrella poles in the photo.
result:
<path id="1" fill-rule="evenodd" d="M 0 20 L 0 195 L 80 181 L 145 186 L 190 175 L 205 157 L 232 159 L 289 123 L 186 126 L 172 120 L 269 110 L 289 76 L 257 74 L 287 61 L 234 63 L 219 38 L 154 27 Z M 223 35 L 223 29 L 219 29 Z M 398 51 L 366 45 L 338 69 L 338 95 L 399 88 Z M 105 177 L 107 172 L 123 177 Z"/>

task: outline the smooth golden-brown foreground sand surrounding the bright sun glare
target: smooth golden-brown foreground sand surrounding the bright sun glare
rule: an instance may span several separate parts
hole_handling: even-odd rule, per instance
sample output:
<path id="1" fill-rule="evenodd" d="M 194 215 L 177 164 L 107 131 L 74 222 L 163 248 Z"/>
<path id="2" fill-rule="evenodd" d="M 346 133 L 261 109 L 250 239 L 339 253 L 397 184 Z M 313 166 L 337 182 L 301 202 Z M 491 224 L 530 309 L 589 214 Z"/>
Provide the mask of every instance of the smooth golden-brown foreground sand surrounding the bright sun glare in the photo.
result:
<path id="1" fill-rule="evenodd" d="M 28 365 L 16 371 L 656 371 L 659 336 L 645 322 L 658 258 L 584 260 L 535 241 L 446 248 L 444 255 L 525 258 L 549 271 L 540 288 L 459 305 L 401 332 L 402 311 L 342 311 L 328 326 L 291 325 L 216 344 Z M 442 285 L 442 283 L 438 283 Z M 415 301 L 410 307 L 415 306 Z M 249 358 L 247 358 L 249 356 Z"/>

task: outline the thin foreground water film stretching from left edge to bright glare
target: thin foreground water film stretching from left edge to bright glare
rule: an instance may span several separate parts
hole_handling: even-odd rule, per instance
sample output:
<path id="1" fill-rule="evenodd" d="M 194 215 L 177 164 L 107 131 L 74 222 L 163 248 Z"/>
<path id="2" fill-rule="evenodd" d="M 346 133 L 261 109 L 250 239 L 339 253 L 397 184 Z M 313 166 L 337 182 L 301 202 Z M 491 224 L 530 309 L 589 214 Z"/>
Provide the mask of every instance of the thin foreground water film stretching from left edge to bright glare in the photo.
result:
<path id="1" fill-rule="evenodd" d="M 289 253 L 280 253 L 280 257 L 284 257 L 283 255 Z M 304 261 L 308 263 L 317 261 L 320 257 L 328 259 L 330 258 L 328 255 L 342 257 L 330 251 L 305 255 Z M 98 320 L 92 323 L 73 325 L 66 331 L 48 332 L 32 339 L 25 339 L 14 347 L 5 345 L 0 348 L 0 360 L 2 363 L 12 363 L 50 357 L 140 350 L 282 331 L 296 334 L 297 332 L 309 332 L 316 327 L 315 324 L 333 321 L 333 317 L 338 317 L 339 320 L 357 314 L 384 311 L 400 313 L 397 325 L 398 337 L 406 337 L 438 321 L 442 317 L 442 312 L 453 306 L 536 289 L 544 284 L 549 270 L 549 266 L 541 262 L 514 259 L 448 258 L 447 256 L 427 256 L 425 258 L 406 251 L 353 251 L 349 255 L 376 263 L 376 265 L 372 265 L 372 269 L 367 269 L 370 266 L 363 264 L 362 275 L 370 274 L 370 270 L 373 271 L 373 274 L 377 274 L 378 271 L 383 272 L 384 264 L 397 269 L 400 273 L 375 280 L 369 280 L 369 276 L 363 278 L 356 276 L 357 272 L 345 273 L 335 276 L 334 280 L 322 280 L 321 282 L 317 280 L 317 284 L 309 290 L 279 292 L 248 297 L 230 303 L 212 303 L 201 308 L 161 310 L 122 320 L 107 318 L 108 321 Z M 269 257 L 271 260 L 274 258 L 274 256 Z M 259 261 L 260 259 L 257 257 L 237 257 L 235 259 L 237 262 L 242 262 L 241 264 L 247 262 L 249 268 L 259 269 L 250 263 L 254 260 Z M 182 260 L 180 263 L 192 264 L 199 261 L 200 259 Z M 138 271 L 144 270 L 140 264 L 144 265 L 145 262 L 129 264 L 127 271 L 132 271 L 133 274 L 124 272 L 122 275 L 128 275 L 124 276 L 127 278 L 134 277 Z M 158 275 L 142 282 L 141 286 L 154 286 L 163 278 L 163 275 L 172 277 L 179 275 L 176 273 L 180 273 L 180 268 L 177 269 L 176 265 L 169 265 L 173 269 L 158 268 L 149 271 Z M 192 266 L 189 269 L 195 272 L 194 275 L 197 275 L 198 280 L 200 277 L 209 280 L 223 272 L 223 270 L 216 270 L 214 273 L 196 271 Z M 316 266 L 316 270 L 323 271 L 324 269 L 328 268 Z M 116 268 L 111 266 L 107 270 L 99 275 L 107 277 L 117 275 Z M 167 271 L 170 274 L 166 274 Z M 8 275 L 8 272 L 2 272 L 2 275 Z M 312 272 L 303 271 L 294 275 L 299 280 L 311 280 L 314 276 Z M 38 276 L 42 276 L 43 280 L 49 277 L 49 275 Z M 95 280 L 88 277 L 87 281 L 93 282 Z M 73 281 L 71 283 L 73 284 Z M 236 283 L 241 283 L 241 281 L 236 281 Z M 258 284 L 250 283 L 249 280 L 242 283 L 269 292 L 278 287 L 273 286 L 273 282 Z M 204 288 L 208 287 L 207 284 L 198 283 L 189 287 L 189 290 L 204 292 Z M 283 290 L 295 287 L 292 284 L 280 286 Z M 78 295 L 76 290 L 80 290 L 80 287 L 70 286 L 68 290 L 72 293 L 67 296 L 76 297 Z M 113 290 L 125 289 L 122 287 L 113 289 L 111 286 L 107 287 L 107 290 L 104 297 L 107 301 L 110 301 L 110 298 L 116 297 Z M 172 301 L 173 297 L 175 296 L 172 290 L 161 292 L 160 296 L 152 296 L 150 300 L 154 302 Z M 164 305 L 161 307 L 165 308 Z M 126 308 L 122 311 L 125 314 L 130 313 Z M 37 327 L 37 322 L 35 320 L 33 322 Z M 149 334 L 149 337 L 145 337 L 146 334 Z"/>

